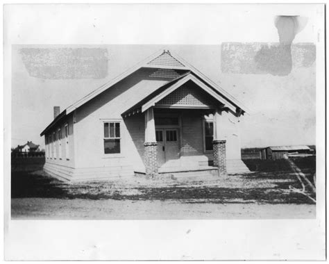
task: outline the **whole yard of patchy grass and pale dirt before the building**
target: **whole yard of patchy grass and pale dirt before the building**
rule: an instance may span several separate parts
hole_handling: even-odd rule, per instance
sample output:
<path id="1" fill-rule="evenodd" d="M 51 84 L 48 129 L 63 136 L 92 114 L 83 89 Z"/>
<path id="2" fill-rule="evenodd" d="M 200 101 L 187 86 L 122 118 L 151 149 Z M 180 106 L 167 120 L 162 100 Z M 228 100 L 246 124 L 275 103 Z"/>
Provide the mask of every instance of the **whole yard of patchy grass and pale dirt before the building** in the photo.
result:
<path id="1" fill-rule="evenodd" d="M 315 160 L 300 164 L 311 178 Z M 315 217 L 314 201 L 291 189 L 301 188 L 301 183 L 289 167 L 268 170 L 269 165 L 255 161 L 247 165 L 258 172 L 83 183 L 63 183 L 42 170 L 16 171 L 12 172 L 11 215 L 12 219 L 81 220 Z"/>

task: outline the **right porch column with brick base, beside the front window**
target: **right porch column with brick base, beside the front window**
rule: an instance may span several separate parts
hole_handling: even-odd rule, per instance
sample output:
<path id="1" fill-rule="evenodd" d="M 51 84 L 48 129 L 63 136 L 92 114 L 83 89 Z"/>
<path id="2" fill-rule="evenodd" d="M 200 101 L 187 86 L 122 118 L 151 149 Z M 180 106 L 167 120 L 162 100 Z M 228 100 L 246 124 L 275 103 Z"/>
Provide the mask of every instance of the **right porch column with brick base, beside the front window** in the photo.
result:
<path id="1" fill-rule="evenodd" d="M 226 140 L 223 135 L 223 118 L 226 117 L 226 111 L 216 109 L 214 112 L 214 140 L 212 141 L 214 166 L 218 167 L 219 176 L 226 174 Z"/>

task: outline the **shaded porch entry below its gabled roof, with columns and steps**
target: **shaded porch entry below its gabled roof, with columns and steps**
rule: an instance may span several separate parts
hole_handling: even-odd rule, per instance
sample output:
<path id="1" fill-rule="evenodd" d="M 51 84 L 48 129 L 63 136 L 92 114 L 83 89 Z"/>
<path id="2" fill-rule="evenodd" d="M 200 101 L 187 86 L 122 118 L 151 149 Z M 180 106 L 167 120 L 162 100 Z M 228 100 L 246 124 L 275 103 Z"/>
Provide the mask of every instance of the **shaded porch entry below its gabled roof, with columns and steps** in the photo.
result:
<path id="1" fill-rule="evenodd" d="M 195 172 L 214 175 L 219 174 L 220 157 L 220 173 L 225 174 L 225 147 L 214 148 L 214 144 L 219 145 L 219 141 L 214 141 L 215 113 L 213 109 L 151 108 L 145 114 L 127 117 L 128 132 L 143 163 L 135 168 L 135 173 L 147 176 L 193 175 Z M 140 126 L 142 119 L 145 120 L 144 131 Z M 220 142 L 225 143 L 225 140 Z M 221 154 L 218 154 L 219 150 Z M 217 164 L 214 158 L 217 158 Z"/>

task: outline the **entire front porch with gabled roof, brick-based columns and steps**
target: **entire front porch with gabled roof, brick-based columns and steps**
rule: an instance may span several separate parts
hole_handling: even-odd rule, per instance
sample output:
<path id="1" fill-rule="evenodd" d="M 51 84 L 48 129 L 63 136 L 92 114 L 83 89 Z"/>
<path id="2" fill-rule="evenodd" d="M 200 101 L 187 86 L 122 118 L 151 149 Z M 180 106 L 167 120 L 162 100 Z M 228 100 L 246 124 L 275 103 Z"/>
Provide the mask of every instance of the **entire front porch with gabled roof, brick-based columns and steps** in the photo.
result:
<path id="1" fill-rule="evenodd" d="M 137 101 L 122 117 L 144 117 L 144 148 L 140 151 L 144 169 L 140 173 L 155 176 L 217 168 L 219 174 L 226 174 L 226 138 L 232 133 L 228 131 L 232 124 L 235 129 L 229 117 L 242 113 L 217 90 L 187 72 Z M 138 140 L 133 138 L 135 145 Z"/>

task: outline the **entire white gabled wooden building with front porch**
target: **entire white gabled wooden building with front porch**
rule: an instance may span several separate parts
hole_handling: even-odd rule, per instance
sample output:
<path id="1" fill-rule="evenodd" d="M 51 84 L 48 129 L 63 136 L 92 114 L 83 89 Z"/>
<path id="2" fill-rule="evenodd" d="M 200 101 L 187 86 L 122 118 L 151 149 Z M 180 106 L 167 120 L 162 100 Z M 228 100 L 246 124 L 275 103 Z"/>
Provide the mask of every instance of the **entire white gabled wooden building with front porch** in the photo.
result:
<path id="1" fill-rule="evenodd" d="M 44 170 L 68 181 L 246 172 L 246 108 L 170 51 L 76 101 L 47 126 Z"/>

